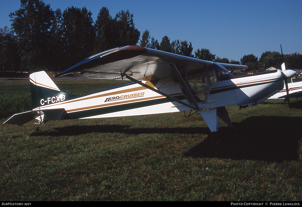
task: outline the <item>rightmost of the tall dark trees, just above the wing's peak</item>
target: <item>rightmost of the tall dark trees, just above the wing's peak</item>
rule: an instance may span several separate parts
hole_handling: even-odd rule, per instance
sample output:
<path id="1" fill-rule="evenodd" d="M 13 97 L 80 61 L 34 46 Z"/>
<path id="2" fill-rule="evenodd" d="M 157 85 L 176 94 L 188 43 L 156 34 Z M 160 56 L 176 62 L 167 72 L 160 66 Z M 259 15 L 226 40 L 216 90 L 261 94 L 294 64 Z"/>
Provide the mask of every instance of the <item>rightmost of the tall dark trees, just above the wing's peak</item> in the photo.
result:
<path id="1" fill-rule="evenodd" d="M 117 34 L 117 46 L 137 45 L 140 39 L 140 31 L 135 28 L 133 23 L 133 14 L 127 10 L 120 11 L 116 14 L 114 20 L 116 21 Z"/>

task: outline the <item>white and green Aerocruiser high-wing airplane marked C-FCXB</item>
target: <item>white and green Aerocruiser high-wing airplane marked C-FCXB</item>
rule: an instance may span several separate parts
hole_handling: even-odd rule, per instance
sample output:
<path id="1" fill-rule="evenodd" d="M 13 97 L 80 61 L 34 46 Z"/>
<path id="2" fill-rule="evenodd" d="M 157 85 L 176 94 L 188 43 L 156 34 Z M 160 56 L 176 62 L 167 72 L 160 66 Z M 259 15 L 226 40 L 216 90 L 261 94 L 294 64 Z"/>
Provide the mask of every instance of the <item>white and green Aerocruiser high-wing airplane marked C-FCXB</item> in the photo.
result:
<path id="1" fill-rule="evenodd" d="M 220 119 L 232 126 L 226 106 L 256 105 L 282 90 L 284 81 L 296 74 L 273 70 L 234 77 L 229 72 L 246 68 L 141 46 L 119 47 L 91 56 L 58 76 L 131 82 L 75 96 L 60 91 L 46 72 L 34 72 L 29 76 L 34 109 L 14 114 L 4 124 L 190 111 L 200 113 L 211 132 L 217 132 Z"/>

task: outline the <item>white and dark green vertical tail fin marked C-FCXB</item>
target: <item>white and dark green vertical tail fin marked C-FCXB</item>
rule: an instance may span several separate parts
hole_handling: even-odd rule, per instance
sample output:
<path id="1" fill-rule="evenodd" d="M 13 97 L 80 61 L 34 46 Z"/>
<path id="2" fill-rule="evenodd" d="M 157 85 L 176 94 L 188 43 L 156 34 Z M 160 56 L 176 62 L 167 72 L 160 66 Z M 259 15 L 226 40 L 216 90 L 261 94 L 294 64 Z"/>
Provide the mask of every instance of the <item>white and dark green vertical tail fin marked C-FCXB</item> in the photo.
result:
<path id="1" fill-rule="evenodd" d="M 29 75 L 29 81 L 31 82 L 31 99 L 34 108 L 76 97 L 62 92 L 45 71 L 32 73 Z"/>

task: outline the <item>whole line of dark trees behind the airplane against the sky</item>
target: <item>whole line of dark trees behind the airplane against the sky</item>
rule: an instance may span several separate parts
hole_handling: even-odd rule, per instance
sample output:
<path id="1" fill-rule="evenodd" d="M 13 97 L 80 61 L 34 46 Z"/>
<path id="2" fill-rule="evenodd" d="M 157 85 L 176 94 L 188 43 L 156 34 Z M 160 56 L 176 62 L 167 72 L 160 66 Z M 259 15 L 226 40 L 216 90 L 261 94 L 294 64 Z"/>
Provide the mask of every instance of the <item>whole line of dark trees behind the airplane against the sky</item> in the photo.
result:
<path id="1" fill-rule="evenodd" d="M 42 0 L 21 0 L 21 8 L 11 12 L 11 28 L 0 28 L 0 67 L 4 71 L 63 71 L 96 53 L 119 46 L 140 45 L 174 54 L 203 60 L 248 65 L 250 70 L 302 66 L 302 55 L 266 51 L 258 60 L 253 54 L 240 61 L 219 58 L 209 49 L 197 49 L 193 54 L 191 42 L 170 41 L 164 36 L 159 43 L 146 29 L 140 38 L 133 14 L 118 12 L 111 17 L 102 7 L 95 22 L 85 7 L 68 7 L 63 12 L 53 11 Z M 140 42 L 139 42 L 140 41 Z"/>

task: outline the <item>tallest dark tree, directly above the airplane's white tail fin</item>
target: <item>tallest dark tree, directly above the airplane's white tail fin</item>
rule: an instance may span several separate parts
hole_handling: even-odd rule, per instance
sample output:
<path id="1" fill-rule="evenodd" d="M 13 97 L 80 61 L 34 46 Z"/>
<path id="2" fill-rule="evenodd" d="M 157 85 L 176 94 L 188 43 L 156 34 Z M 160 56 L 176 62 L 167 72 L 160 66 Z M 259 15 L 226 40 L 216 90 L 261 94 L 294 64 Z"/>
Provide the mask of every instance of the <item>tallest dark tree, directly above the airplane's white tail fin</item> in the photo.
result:
<path id="1" fill-rule="evenodd" d="M 55 18 L 50 5 L 40 0 L 21 0 L 21 8 L 9 17 L 19 43 L 22 65 L 31 71 L 49 58 L 50 27 Z"/>

